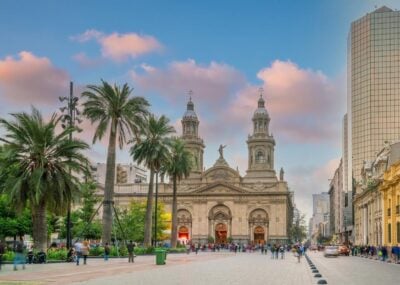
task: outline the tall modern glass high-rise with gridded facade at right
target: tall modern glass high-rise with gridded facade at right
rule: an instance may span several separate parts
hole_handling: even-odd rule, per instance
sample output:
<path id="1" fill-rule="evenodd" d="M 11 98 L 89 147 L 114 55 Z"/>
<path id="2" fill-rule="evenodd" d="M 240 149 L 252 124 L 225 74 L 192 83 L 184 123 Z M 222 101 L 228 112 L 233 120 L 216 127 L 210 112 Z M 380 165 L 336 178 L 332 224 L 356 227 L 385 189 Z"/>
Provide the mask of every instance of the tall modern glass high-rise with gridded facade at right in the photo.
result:
<path id="1" fill-rule="evenodd" d="M 400 138 L 400 11 L 383 6 L 351 24 L 348 71 L 349 189 L 364 160 Z"/>

